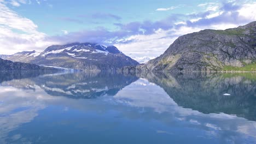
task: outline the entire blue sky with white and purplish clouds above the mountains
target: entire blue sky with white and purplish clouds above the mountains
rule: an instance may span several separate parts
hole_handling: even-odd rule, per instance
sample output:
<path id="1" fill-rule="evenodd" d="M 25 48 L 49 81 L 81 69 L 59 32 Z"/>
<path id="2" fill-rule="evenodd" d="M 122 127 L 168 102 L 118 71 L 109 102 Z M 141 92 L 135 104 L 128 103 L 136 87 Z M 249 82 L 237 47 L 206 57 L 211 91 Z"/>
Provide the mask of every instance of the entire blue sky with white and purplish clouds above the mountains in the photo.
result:
<path id="1" fill-rule="evenodd" d="M 0 0 L 0 54 L 89 42 L 146 62 L 181 35 L 256 21 L 255 9 L 256 0 Z"/>

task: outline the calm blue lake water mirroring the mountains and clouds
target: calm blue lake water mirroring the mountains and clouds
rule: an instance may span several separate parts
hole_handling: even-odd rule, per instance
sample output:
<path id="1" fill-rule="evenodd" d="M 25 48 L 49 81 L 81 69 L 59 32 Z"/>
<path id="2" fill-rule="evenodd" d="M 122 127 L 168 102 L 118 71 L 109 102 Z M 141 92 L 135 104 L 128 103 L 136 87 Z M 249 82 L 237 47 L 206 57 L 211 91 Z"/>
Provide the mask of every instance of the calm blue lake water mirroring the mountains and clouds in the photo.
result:
<path id="1" fill-rule="evenodd" d="M 256 74 L 1 72 L 0 143 L 256 143 Z"/>

